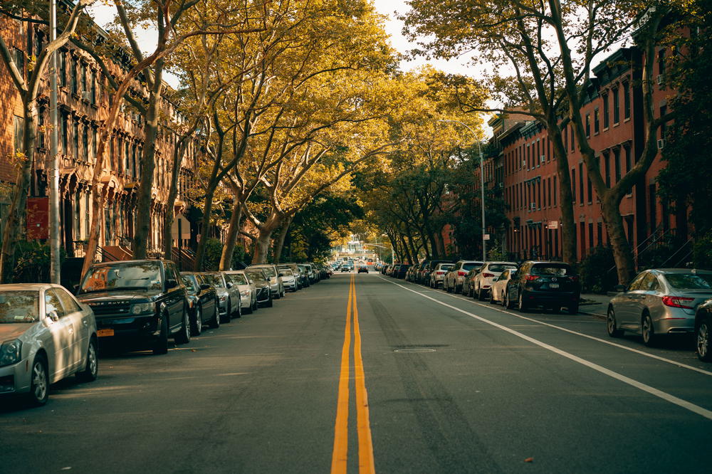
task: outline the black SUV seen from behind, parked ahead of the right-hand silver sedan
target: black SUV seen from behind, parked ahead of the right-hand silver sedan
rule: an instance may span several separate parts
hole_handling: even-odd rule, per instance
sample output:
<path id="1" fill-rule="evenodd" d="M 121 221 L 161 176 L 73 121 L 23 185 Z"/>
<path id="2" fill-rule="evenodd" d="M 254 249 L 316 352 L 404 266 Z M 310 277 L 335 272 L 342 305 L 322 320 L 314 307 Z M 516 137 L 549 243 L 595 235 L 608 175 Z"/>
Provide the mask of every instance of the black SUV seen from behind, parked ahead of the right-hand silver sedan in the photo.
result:
<path id="1" fill-rule="evenodd" d="M 581 285 L 571 265 L 564 262 L 522 263 L 507 283 L 504 305 L 524 312 L 543 306 L 558 311 L 562 306 L 570 314 L 578 312 Z"/>

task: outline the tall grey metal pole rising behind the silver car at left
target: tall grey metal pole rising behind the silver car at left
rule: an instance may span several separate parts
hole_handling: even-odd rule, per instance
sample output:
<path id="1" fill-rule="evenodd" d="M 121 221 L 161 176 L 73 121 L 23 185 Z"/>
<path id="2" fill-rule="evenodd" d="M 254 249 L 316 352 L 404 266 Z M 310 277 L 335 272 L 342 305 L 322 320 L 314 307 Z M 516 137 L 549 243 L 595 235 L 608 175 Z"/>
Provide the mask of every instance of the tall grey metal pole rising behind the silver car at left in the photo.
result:
<path id="1" fill-rule="evenodd" d="M 57 0 L 49 0 L 49 41 L 57 38 Z M 57 52 L 50 58 L 50 148 L 47 171 L 49 178 L 49 249 L 50 249 L 50 283 L 59 284 L 61 270 L 59 261 L 59 153 L 57 149 Z"/>

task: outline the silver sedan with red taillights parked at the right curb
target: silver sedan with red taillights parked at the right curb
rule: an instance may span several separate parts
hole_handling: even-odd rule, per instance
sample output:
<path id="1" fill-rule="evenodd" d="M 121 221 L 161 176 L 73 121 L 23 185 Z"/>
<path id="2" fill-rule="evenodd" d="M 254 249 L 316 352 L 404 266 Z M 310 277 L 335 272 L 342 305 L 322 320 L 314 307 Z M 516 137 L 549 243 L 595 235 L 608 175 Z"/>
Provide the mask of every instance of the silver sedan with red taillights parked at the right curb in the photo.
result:
<path id="1" fill-rule="evenodd" d="M 640 332 L 644 344 L 663 335 L 694 332 L 695 310 L 712 298 L 712 271 L 664 268 L 639 273 L 628 288 L 619 286 L 608 305 L 611 337 Z"/>

